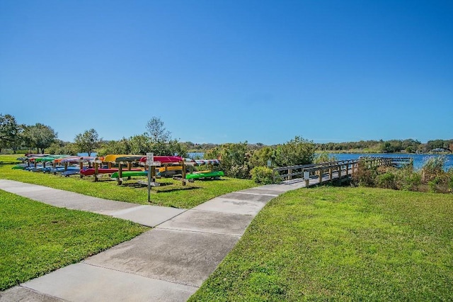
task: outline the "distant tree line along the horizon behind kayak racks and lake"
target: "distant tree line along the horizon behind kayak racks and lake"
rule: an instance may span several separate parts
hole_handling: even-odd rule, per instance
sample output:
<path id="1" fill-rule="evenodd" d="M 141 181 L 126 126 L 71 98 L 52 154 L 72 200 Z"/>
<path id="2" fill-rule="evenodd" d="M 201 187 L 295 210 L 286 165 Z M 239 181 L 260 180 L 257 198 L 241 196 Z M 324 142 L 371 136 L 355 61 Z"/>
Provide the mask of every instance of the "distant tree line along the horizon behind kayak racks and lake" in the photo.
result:
<path id="1" fill-rule="evenodd" d="M 160 118 L 152 117 L 146 125 L 146 132 L 132 135 L 120 140 L 103 140 L 95 129 L 79 133 L 74 142 L 64 142 L 58 139 L 58 133 L 49 125 L 36 123 L 25 125 L 17 123 L 10 114 L 0 114 L 0 152 L 10 149 L 13 152 L 28 150 L 28 152 L 75 155 L 78 152 L 98 152 L 106 154 L 145 154 L 154 152 L 159 155 L 178 154 L 185 157 L 188 152 L 211 152 L 219 150 L 222 145 L 194 142 L 180 142 L 171 138 Z M 295 138 L 300 139 L 300 138 Z M 266 146 L 263 143 L 248 144 L 248 150 L 276 150 L 278 145 Z M 452 140 L 360 140 L 359 142 L 328 142 L 314 143 L 314 150 L 326 152 L 424 152 L 435 149 L 453 151 Z M 212 152 L 211 152 L 212 153 Z M 250 151 L 248 153 L 251 153 Z M 214 155 L 214 154 L 213 154 Z"/>

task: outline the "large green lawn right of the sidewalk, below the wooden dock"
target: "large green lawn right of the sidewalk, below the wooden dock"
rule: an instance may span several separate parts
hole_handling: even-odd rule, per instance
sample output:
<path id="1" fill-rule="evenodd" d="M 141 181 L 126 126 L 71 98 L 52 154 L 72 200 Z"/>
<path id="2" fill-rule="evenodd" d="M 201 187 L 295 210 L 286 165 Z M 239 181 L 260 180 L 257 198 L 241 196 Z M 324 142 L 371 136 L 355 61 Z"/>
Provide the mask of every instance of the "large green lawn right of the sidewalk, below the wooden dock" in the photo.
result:
<path id="1" fill-rule="evenodd" d="M 292 191 L 190 301 L 453 301 L 452 226 L 451 194 Z"/>

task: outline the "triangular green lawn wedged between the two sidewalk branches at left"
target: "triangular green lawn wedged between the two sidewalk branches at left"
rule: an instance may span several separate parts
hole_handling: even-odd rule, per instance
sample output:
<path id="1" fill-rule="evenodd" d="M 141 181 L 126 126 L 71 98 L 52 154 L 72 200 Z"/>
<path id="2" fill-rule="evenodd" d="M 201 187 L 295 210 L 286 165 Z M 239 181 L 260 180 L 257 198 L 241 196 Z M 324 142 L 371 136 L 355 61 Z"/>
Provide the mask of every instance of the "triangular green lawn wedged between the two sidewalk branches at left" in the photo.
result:
<path id="1" fill-rule="evenodd" d="M 55 208 L 0 190 L 0 290 L 149 230 L 127 220 Z"/>

